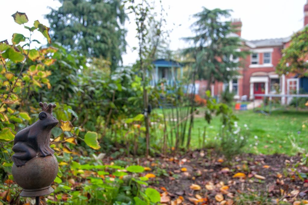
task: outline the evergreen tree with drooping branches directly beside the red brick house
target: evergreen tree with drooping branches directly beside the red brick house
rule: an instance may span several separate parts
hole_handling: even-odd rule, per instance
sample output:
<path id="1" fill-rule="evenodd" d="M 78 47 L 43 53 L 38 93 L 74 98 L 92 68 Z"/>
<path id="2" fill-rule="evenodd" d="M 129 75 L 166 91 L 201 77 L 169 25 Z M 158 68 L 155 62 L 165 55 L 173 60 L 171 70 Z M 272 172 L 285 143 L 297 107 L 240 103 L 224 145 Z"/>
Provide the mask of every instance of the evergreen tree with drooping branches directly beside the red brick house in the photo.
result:
<path id="1" fill-rule="evenodd" d="M 194 78 L 208 81 L 207 89 L 215 81 L 228 81 L 237 74 L 238 57 L 245 57 L 245 52 L 238 48 L 241 40 L 232 35 L 231 22 L 222 21 L 230 17 L 230 10 L 209 10 L 203 7 L 200 13 L 194 15 L 197 21 L 192 28 L 196 36 L 185 38 L 193 42 L 193 47 L 184 50 L 185 56 L 193 59 L 192 67 L 196 76 Z"/>

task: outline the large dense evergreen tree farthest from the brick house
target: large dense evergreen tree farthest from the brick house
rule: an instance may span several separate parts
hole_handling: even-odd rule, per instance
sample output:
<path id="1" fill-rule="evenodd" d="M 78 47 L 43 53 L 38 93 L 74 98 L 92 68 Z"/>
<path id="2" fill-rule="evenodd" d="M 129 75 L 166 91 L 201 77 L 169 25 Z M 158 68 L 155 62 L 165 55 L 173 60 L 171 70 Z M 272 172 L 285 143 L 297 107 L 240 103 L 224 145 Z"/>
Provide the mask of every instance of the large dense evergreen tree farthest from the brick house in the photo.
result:
<path id="1" fill-rule="evenodd" d="M 103 57 L 115 69 L 125 52 L 126 18 L 122 0 L 60 0 L 46 15 L 53 41 L 87 57 Z"/>

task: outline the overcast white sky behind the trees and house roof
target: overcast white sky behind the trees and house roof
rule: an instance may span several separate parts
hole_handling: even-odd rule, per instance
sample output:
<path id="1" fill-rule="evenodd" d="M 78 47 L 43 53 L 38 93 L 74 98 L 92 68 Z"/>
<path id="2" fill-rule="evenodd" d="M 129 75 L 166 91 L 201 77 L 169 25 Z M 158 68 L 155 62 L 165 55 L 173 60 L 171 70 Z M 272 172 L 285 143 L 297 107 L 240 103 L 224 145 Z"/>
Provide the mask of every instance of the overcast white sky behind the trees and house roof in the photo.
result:
<path id="1" fill-rule="evenodd" d="M 50 12 L 47 6 L 56 8 L 61 4 L 56 0 L 0 0 L 2 19 L 0 41 L 12 38 L 13 33 L 27 32 L 21 25 L 14 23 L 12 14 L 18 10 L 24 12 L 29 18 L 28 24 L 34 20 L 49 26 L 44 15 Z M 306 0 L 162 0 L 163 7 L 168 16 L 166 17 L 170 34 L 170 49 L 184 48 L 186 44 L 180 40 L 182 37 L 191 36 L 189 26 L 194 22 L 191 15 L 200 12 L 202 6 L 209 9 L 232 9 L 232 18 L 241 18 L 242 38 L 247 40 L 281 38 L 290 36 L 293 32 L 303 27 L 303 7 Z M 4 8 L 4 9 L 3 9 Z M 137 53 L 132 52 L 132 47 L 137 46 L 136 27 L 133 16 L 131 21 L 125 23 L 128 29 L 126 40 L 128 42 L 127 54 L 123 55 L 124 65 L 132 64 L 137 59 Z M 46 44 L 47 41 L 39 33 L 34 38 Z"/>

